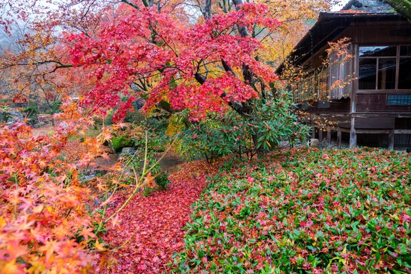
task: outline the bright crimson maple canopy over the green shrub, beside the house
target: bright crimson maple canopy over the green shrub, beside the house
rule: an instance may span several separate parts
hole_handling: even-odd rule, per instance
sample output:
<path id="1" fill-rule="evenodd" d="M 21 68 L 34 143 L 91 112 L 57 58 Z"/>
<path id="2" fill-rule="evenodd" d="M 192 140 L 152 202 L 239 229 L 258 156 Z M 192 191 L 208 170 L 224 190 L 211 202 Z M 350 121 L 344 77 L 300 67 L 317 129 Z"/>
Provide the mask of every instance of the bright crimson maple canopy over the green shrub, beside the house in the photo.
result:
<path id="1" fill-rule="evenodd" d="M 74 45 L 73 66 L 92 68 L 97 79 L 86 103 L 95 110 L 113 108 L 121 95 L 132 94 L 120 104 L 118 119 L 136 96 L 147 99 L 146 110 L 169 103 L 171 110 L 190 110 L 192 119 L 223 112 L 227 105 L 240 114 L 251 112 L 247 101 L 276 76 L 256 60 L 260 43 L 247 28 L 275 29 L 279 23 L 264 16 L 264 5 L 235 4 L 227 14 L 206 12 L 205 21 L 195 25 L 176 21 L 166 10 L 137 5 L 126 8 L 120 20 L 101 25 L 92 38 L 67 36 Z"/>

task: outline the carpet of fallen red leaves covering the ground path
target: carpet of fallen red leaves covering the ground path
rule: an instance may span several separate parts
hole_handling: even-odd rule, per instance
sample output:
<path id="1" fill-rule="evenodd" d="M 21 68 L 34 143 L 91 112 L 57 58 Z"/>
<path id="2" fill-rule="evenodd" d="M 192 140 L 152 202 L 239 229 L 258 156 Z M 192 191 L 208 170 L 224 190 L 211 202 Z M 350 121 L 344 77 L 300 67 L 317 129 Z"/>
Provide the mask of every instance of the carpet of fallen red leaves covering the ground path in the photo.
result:
<path id="1" fill-rule="evenodd" d="M 108 227 L 104 241 L 114 251 L 110 253 L 112 263 L 101 273 L 167 271 L 165 264 L 184 245 L 182 227 L 192 212 L 190 206 L 206 186 L 206 175 L 215 174 L 220 163 L 194 161 L 180 166 L 182 169 L 169 175 L 168 190 L 153 192 L 149 197 L 136 195 L 119 214 L 121 224 Z M 121 206 L 127 192 L 113 198 Z M 115 207 L 110 208 L 108 214 L 114 210 Z"/>

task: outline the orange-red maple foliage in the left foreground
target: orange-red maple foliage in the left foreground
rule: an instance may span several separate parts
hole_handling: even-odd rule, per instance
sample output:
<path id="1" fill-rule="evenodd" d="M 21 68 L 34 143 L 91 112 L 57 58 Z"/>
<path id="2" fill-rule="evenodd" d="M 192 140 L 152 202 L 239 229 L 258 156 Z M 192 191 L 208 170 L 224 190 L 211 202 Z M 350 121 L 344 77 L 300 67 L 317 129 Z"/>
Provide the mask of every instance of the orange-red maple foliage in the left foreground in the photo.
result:
<path id="1" fill-rule="evenodd" d="M 96 235 L 86 214 L 92 195 L 81 184 L 79 168 L 97 155 L 98 143 L 89 142 L 88 153 L 75 164 L 59 157 L 67 136 L 86 125 L 84 119 L 78 120 L 73 105 L 64 108 L 72 119 L 51 136 L 33 136 L 23 123 L 0 129 L 1 273 L 92 267 L 87 245 Z"/>

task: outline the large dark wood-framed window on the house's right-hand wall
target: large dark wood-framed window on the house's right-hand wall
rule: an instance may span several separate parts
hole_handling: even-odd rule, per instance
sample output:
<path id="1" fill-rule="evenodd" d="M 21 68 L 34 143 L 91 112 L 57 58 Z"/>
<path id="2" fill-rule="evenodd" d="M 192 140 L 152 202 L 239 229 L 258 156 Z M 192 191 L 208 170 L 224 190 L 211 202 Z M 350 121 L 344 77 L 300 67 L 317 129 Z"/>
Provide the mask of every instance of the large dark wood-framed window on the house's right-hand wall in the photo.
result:
<path id="1" fill-rule="evenodd" d="M 359 90 L 411 89 L 411 45 L 360 47 Z"/>

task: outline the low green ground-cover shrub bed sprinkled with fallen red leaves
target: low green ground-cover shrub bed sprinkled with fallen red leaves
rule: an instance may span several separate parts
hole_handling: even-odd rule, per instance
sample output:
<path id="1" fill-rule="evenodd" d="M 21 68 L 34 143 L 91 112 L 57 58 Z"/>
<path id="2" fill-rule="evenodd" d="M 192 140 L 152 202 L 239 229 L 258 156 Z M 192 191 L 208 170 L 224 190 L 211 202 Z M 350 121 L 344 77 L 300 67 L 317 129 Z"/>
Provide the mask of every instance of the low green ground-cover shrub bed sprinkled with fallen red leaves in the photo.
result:
<path id="1" fill-rule="evenodd" d="M 411 157 L 292 149 L 229 164 L 195 203 L 179 273 L 410 273 Z"/>

